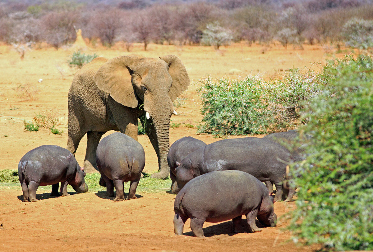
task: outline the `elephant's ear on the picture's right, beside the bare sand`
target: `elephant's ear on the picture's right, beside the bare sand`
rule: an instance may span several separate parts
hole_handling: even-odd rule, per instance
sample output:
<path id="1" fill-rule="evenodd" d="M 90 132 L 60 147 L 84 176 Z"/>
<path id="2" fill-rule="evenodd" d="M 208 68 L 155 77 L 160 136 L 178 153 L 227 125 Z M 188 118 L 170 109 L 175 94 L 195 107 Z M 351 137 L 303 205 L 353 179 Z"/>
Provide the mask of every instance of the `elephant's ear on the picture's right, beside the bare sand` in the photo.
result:
<path id="1" fill-rule="evenodd" d="M 188 73 L 186 73 L 184 64 L 178 56 L 164 55 L 159 58 L 166 61 L 168 64 L 168 73 L 172 77 L 172 85 L 168 94 L 171 101 L 175 101 L 190 84 Z"/>

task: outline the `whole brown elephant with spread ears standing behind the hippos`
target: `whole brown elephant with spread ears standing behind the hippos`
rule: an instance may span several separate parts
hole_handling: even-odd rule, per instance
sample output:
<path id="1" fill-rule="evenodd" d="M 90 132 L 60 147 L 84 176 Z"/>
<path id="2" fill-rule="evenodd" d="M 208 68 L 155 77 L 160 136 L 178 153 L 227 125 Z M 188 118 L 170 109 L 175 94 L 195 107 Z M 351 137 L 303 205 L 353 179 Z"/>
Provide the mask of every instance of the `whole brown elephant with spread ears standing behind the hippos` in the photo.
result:
<path id="1" fill-rule="evenodd" d="M 75 156 L 87 133 L 84 168 L 98 170 L 95 156 L 101 136 L 116 130 L 137 140 L 140 118 L 158 157 L 159 172 L 151 176 L 167 178 L 172 102 L 189 84 L 188 73 L 175 55 L 93 59 L 75 74 L 68 93 L 67 149 Z"/>

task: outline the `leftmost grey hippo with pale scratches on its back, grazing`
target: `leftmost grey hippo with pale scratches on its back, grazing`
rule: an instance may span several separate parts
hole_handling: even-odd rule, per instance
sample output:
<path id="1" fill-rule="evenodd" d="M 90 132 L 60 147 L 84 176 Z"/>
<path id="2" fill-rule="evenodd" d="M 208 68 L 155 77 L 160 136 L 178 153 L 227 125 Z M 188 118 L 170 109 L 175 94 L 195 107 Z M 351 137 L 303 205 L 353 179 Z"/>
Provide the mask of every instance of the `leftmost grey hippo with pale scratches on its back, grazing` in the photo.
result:
<path id="1" fill-rule="evenodd" d="M 18 163 L 18 177 L 23 192 L 23 202 L 35 202 L 39 185 L 53 185 L 52 196 L 58 193 L 61 182 L 61 196 L 69 196 L 68 184 L 77 193 L 86 193 L 85 172 L 70 151 L 57 145 L 41 145 L 21 158 Z"/>

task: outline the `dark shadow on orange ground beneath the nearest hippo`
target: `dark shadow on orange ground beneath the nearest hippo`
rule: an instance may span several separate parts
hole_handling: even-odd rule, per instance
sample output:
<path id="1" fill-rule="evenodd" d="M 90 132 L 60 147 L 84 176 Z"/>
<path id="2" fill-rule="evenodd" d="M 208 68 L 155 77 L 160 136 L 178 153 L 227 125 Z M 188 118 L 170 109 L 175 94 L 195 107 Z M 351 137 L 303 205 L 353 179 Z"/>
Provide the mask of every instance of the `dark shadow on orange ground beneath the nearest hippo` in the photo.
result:
<path id="1" fill-rule="evenodd" d="M 244 217 L 244 216 L 242 216 Z M 257 227 L 263 228 L 264 226 L 260 224 L 258 220 L 255 221 Z M 249 225 L 247 224 L 246 218 L 241 219 L 241 232 L 240 233 L 248 233 Z M 228 236 L 233 236 L 236 233 L 233 232 L 233 221 L 226 221 L 223 223 L 219 223 L 210 227 L 203 228 L 204 236 L 211 237 L 217 236 L 220 234 L 227 234 Z M 194 236 L 192 231 L 183 233 L 186 236 Z"/>

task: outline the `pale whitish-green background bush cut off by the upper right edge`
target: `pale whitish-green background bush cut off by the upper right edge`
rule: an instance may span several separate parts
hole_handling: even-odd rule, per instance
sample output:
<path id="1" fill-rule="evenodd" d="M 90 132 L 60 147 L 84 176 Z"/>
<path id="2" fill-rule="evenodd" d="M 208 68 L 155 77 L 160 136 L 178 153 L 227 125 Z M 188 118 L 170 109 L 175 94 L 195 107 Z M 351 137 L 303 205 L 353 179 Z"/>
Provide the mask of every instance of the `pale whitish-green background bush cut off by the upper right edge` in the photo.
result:
<path id="1" fill-rule="evenodd" d="M 352 18 L 343 27 L 347 46 L 368 49 L 373 47 L 373 20 Z"/>

